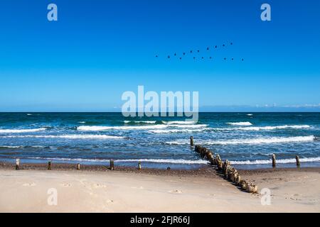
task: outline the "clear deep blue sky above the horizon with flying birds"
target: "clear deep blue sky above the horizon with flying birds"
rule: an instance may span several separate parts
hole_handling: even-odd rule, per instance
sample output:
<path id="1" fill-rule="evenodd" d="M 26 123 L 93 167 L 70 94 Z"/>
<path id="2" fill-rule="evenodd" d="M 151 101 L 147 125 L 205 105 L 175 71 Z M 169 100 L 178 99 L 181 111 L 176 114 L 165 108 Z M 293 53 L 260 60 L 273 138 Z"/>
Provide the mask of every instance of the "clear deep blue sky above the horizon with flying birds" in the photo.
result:
<path id="1" fill-rule="evenodd" d="M 263 3 L 272 21 L 260 20 Z M 206 111 L 319 110 L 319 10 L 311 0 L 4 0 L 0 111 L 117 111 L 138 85 L 198 91 Z M 190 50 L 196 60 L 173 57 Z"/>

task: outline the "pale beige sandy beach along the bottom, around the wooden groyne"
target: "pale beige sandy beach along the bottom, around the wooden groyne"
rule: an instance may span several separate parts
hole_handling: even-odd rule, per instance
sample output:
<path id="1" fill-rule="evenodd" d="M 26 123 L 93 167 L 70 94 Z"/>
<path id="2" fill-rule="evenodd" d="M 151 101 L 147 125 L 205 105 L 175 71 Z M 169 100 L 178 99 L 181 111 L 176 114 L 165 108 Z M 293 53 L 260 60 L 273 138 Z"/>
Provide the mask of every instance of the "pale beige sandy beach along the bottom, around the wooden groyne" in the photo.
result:
<path id="1" fill-rule="evenodd" d="M 75 165 L 0 163 L 1 212 L 319 212 L 320 169 L 240 170 L 262 194 L 242 192 L 215 173 L 201 170 L 135 170 Z M 49 205 L 56 189 L 57 205 Z M 49 192 L 53 192 L 50 191 Z M 263 200 L 265 201 L 265 200 Z"/>

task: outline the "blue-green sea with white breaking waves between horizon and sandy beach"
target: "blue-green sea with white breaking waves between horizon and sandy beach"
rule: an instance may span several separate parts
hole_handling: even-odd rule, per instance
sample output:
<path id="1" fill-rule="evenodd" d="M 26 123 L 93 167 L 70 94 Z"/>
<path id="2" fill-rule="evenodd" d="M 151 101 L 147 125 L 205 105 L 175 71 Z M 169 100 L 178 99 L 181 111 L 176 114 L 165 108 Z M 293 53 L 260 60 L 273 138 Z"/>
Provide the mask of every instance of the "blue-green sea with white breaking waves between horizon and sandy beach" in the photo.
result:
<path id="1" fill-rule="evenodd" d="M 189 145 L 201 144 L 240 168 L 320 165 L 320 113 L 200 113 L 125 118 L 121 113 L 0 113 L 0 160 L 144 167 L 207 165 Z"/>

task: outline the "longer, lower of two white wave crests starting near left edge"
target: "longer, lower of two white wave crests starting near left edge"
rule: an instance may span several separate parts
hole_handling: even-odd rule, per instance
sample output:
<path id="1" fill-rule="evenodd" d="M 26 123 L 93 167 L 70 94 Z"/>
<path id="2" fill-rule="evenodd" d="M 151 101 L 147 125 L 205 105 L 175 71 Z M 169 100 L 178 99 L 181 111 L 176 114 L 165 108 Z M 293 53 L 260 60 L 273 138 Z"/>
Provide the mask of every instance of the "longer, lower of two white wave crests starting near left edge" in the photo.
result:
<path id="1" fill-rule="evenodd" d="M 65 139 L 122 139 L 115 135 L 7 135 L 3 138 L 65 138 Z"/>

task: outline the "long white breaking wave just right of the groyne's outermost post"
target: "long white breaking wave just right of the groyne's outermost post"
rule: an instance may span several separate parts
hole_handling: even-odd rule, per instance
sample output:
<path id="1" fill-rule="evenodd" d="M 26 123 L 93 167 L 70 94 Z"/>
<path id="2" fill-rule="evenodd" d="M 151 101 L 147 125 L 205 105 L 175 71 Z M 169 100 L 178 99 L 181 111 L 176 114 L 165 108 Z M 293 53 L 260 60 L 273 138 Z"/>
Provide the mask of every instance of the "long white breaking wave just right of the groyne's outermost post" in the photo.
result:
<path id="1" fill-rule="evenodd" d="M 209 140 L 203 141 L 205 144 L 216 145 L 236 145 L 236 144 L 262 144 L 262 143 L 297 143 L 309 142 L 314 140 L 314 135 L 295 136 L 295 137 L 270 137 L 270 138 L 255 138 L 255 139 L 235 139 L 235 140 Z"/>

